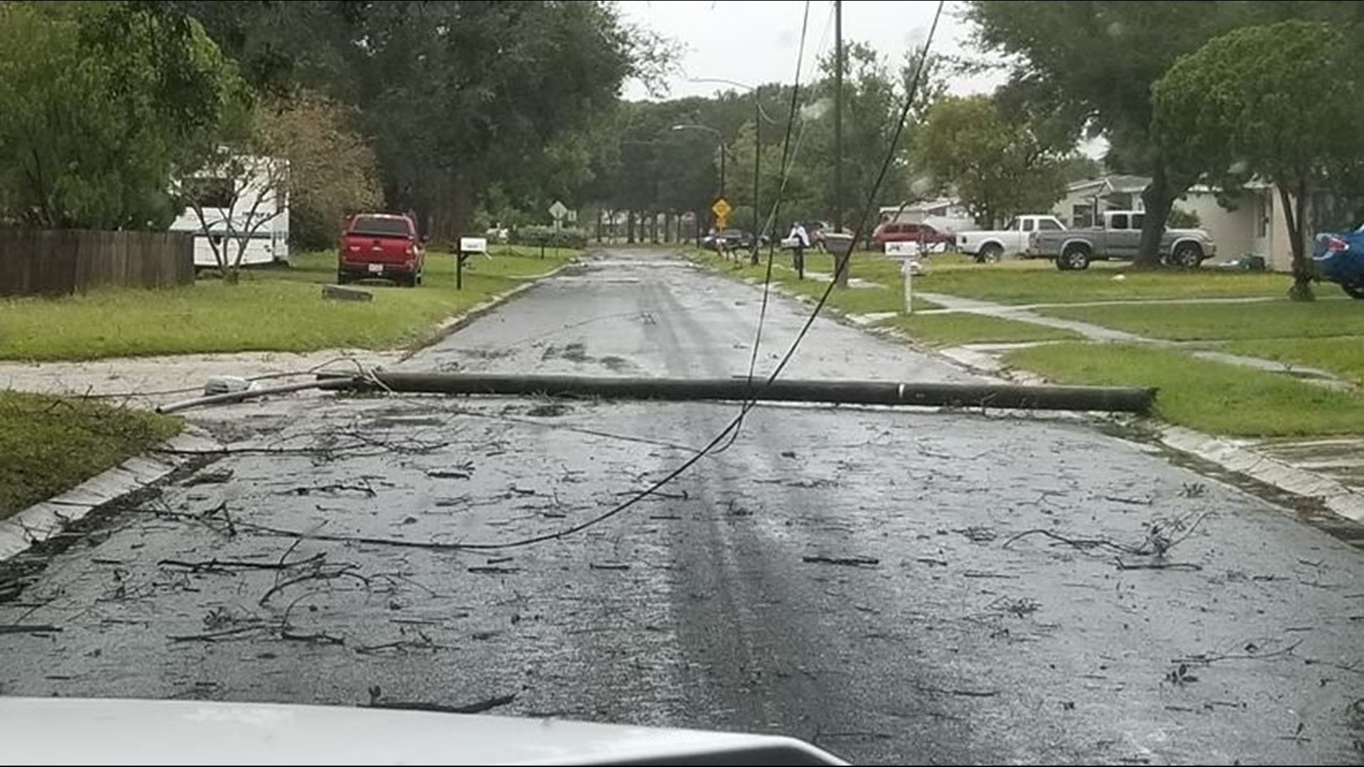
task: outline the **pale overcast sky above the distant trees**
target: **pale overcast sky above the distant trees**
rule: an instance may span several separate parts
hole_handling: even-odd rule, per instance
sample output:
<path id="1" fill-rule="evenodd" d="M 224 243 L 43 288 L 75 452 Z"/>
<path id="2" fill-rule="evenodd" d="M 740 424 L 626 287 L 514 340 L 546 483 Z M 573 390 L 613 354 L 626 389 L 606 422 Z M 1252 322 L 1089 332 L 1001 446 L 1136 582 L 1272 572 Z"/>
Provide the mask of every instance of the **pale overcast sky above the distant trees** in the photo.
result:
<path id="1" fill-rule="evenodd" d="M 953 52 L 966 45 L 968 25 L 959 18 L 962 3 L 948 3 L 933 38 L 933 50 Z M 683 45 L 681 71 L 670 81 L 668 97 L 711 96 L 715 83 L 696 83 L 692 78 L 727 78 L 742 83 L 791 82 L 801 42 L 801 19 L 805 0 L 623 0 L 626 19 L 659 31 Z M 806 35 L 806 63 L 802 82 L 809 82 L 816 52 L 833 46 L 833 3 L 810 3 L 810 26 Z M 928 35 L 934 0 L 843 3 L 843 38 L 872 45 L 899 68 L 908 50 L 917 49 Z M 960 79 L 955 93 L 993 90 L 1001 75 Z M 648 98 L 640 82 L 625 86 L 625 97 Z"/>

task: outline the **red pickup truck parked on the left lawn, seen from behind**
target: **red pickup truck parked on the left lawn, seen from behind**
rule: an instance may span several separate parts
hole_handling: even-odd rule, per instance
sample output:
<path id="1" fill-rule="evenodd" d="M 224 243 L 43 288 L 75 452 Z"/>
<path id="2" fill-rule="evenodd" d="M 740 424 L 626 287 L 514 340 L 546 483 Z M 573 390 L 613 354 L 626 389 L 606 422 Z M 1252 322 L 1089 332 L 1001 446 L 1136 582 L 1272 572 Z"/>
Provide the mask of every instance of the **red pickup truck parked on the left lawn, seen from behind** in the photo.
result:
<path id="1" fill-rule="evenodd" d="M 337 246 L 337 283 L 382 278 L 415 288 L 421 284 L 426 248 L 417 227 L 406 216 L 361 213 L 341 229 Z"/>

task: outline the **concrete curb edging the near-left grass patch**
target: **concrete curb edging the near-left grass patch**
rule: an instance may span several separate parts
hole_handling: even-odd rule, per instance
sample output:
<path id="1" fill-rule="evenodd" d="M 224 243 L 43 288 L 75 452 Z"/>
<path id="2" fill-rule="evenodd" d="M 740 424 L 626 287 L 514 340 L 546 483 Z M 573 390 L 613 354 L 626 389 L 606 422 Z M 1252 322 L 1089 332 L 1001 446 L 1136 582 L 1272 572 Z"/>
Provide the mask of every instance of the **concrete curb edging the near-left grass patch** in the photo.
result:
<path id="1" fill-rule="evenodd" d="M 55 498 L 0 520 L 0 562 L 60 534 L 100 506 L 164 479 L 190 461 L 190 453 L 220 448 L 216 439 L 192 426 L 160 446 L 165 452 L 131 457 Z"/>

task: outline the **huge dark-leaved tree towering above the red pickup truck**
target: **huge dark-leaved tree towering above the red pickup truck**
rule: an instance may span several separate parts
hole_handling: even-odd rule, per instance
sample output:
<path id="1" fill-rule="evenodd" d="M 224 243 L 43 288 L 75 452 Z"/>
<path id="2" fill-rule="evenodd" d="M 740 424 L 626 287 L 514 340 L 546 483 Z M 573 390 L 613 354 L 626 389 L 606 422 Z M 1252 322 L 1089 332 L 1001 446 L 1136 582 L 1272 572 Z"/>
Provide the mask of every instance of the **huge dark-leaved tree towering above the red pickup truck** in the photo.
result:
<path id="1" fill-rule="evenodd" d="M 573 135 L 667 61 L 612 3 L 180 3 L 243 61 L 356 106 L 390 207 L 460 233 L 487 190 L 582 183 Z"/>

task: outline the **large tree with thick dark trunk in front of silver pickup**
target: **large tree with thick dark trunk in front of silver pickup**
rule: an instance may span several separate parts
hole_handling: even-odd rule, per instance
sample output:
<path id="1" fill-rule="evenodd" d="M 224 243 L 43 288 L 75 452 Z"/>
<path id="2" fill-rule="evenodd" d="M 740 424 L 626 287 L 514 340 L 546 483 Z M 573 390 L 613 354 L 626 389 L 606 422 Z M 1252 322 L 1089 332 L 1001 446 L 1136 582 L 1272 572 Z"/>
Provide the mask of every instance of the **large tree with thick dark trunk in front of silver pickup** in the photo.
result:
<path id="1" fill-rule="evenodd" d="M 1012 78 L 1056 115 L 1108 136 L 1116 171 L 1146 173 L 1136 262 L 1159 263 L 1174 199 L 1192 183 L 1151 139 L 1151 85 L 1174 60 L 1244 19 L 1244 3 L 973 0 L 979 42 L 1015 56 Z"/>

